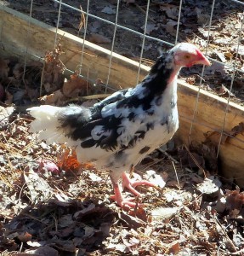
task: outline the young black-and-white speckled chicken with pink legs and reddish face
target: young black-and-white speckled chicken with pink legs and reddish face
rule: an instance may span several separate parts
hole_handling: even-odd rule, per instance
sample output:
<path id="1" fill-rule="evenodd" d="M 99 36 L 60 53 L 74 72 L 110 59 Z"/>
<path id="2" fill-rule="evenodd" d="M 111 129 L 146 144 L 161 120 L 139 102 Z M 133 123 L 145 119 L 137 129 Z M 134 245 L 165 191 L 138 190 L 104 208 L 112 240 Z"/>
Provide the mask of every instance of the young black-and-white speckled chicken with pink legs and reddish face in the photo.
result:
<path id="1" fill-rule="evenodd" d="M 117 91 L 92 108 L 29 108 L 35 118 L 30 131 L 41 131 L 39 138 L 47 143 L 67 143 L 80 162 L 109 170 L 116 204 L 134 207 L 134 201 L 123 198 L 119 179 L 134 195 L 140 195 L 134 189 L 138 185 L 154 186 L 145 180 L 133 183 L 126 172 L 178 130 L 177 77 L 181 67 L 195 64 L 210 62 L 193 44 L 177 44 L 157 59 L 136 87 Z"/>

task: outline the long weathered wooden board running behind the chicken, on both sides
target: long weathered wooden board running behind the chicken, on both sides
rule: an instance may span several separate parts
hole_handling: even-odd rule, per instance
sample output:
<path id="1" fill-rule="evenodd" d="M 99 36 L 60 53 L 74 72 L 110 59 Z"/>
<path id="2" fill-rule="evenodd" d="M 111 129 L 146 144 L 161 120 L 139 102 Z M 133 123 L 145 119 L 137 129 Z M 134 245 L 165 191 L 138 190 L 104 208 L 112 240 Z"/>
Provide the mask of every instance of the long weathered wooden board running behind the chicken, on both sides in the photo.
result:
<path id="1" fill-rule="evenodd" d="M 0 55 L 17 55 L 24 59 L 42 59 L 47 50 L 54 49 L 56 29 L 41 21 L 34 20 L 12 9 L 0 5 Z M 89 79 L 102 79 L 107 81 L 109 73 L 110 57 L 111 73 L 109 84 L 115 89 L 130 87 L 136 84 L 139 63 L 131 61 L 122 55 L 91 44 L 88 41 L 77 38 L 67 32 L 57 31 L 62 37 L 61 44 L 65 51 L 61 59 L 70 70 L 75 70 L 82 59 L 82 44 L 84 54 L 82 61 L 82 75 Z M 148 73 L 149 67 L 141 66 L 139 79 L 143 79 Z M 200 90 L 198 105 L 196 99 L 198 88 L 185 84 L 179 80 L 179 113 L 180 125 L 177 137 L 184 143 L 191 141 L 203 142 L 204 133 L 207 131 L 229 132 L 231 129 L 244 122 L 244 108 L 230 103 L 225 116 L 227 101 L 213 96 L 207 91 Z M 196 115 L 193 120 L 194 109 Z M 190 127 L 192 130 L 190 134 Z M 189 140 L 190 134 L 190 140 Z M 244 136 L 238 135 L 220 146 L 220 162 L 224 176 L 235 179 L 241 187 L 244 187 Z"/>

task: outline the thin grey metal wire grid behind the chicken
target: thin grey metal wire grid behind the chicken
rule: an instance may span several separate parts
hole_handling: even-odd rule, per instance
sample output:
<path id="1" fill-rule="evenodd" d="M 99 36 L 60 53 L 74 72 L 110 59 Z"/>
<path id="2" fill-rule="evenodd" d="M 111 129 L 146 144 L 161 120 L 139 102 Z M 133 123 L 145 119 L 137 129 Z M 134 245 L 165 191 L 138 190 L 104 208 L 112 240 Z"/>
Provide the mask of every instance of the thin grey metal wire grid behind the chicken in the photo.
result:
<path id="1" fill-rule="evenodd" d="M 109 61 L 109 70 L 108 70 L 108 76 L 107 76 L 107 80 L 106 80 L 106 86 L 105 86 L 105 90 L 107 90 L 108 88 L 112 88 L 109 83 L 110 83 L 110 74 L 111 74 L 111 61 L 112 61 L 112 52 L 114 52 L 114 46 L 115 46 L 115 38 L 116 38 L 116 31 L 118 28 L 124 30 L 124 31 L 128 31 L 128 32 L 132 32 L 134 35 L 137 35 L 141 38 L 141 51 L 140 51 L 140 57 L 139 57 L 139 69 L 138 69 L 138 76 L 137 76 L 137 81 L 139 82 L 139 72 L 140 72 L 140 68 L 141 68 L 141 63 L 142 63 L 142 58 L 143 58 L 143 55 L 144 55 L 144 46 L 145 46 L 145 39 L 150 39 L 152 40 L 153 42 L 155 43 L 161 43 L 161 44 L 165 44 L 167 46 L 173 46 L 172 43 L 170 42 L 167 42 L 165 40 L 162 40 L 162 39 L 159 39 L 159 38 L 154 38 L 154 37 L 151 37 L 149 35 L 146 34 L 146 28 L 147 28 L 147 22 L 148 22 L 148 15 L 149 15 L 149 11 L 150 11 L 150 0 L 147 1 L 147 4 L 146 4 L 146 11 L 145 11 L 145 26 L 144 26 L 144 32 L 138 32 L 138 31 L 135 31 L 129 27 L 126 27 L 126 26 L 122 26 L 120 24 L 118 24 L 118 17 L 120 15 L 120 12 L 119 12 L 119 9 L 120 9 L 120 3 L 121 1 L 120 0 L 117 0 L 116 1 L 116 14 L 115 14 L 115 21 L 111 21 L 111 20 L 106 20 L 104 18 L 101 18 L 99 17 L 98 15 L 93 15 L 89 12 L 89 5 L 92 1 L 88 0 L 87 2 L 87 6 L 86 6 L 86 11 L 82 10 L 82 9 L 77 9 L 67 3 L 64 3 L 64 1 L 62 0 L 53 0 L 54 3 L 58 4 L 59 6 L 59 11 L 58 11 L 58 16 L 57 16 L 57 25 L 56 25 L 56 34 L 55 34 L 55 38 L 54 38 L 54 46 L 55 44 L 57 43 L 57 30 L 58 30 L 58 27 L 59 27 L 59 23 L 60 23 L 60 15 L 61 15 L 61 8 L 62 7 L 65 7 L 67 9 L 71 9 L 77 13 L 80 13 L 80 14 L 83 14 L 86 16 L 86 20 L 85 20 L 85 24 L 84 24 L 84 28 L 83 28 L 83 35 L 82 35 L 82 38 L 83 40 L 86 39 L 86 36 L 87 36 L 87 33 L 88 33 L 88 22 L 89 22 L 89 18 L 93 18 L 95 20 L 100 20 L 100 21 L 103 21 L 109 25 L 112 25 L 114 26 L 114 31 L 113 31 L 113 38 L 112 38 L 112 41 L 111 41 L 111 55 L 110 55 L 110 61 Z M 214 60 L 213 58 L 210 58 L 209 59 L 213 62 L 216 62 L 218 63 L 218 65 L 222 65 L 222 66 L 225 66 L 225 67 L 229 67 L 232 69 L 232 76 L 231 76 L 231 81 L 230 81 L 230 92 L 232 91 L 232 87 L 233 87 L 233 83 L 234 83 L 234 79 L 235 79 L 235 73 L 238 71 L 239 73 L 244 73 L 243 70 L 240 70 L 236 67 L 236 58 L 237 58 L 237 55 L 238 55 L 238 50 L 240 48 L 240 45 L 241 45 L 241 37 L 242 37 L 242 31 L 243 31 L 243 22 L 244 22 L 244 3 L 242 3 L 241 1 L 238 1 L 238 0 L 230 0 L 230 2 L 233 2 L 233 3 L 237 3 L 237 4 L 240 4 L 240 7 L 241 9 L 243 10 L 242 12 L 242 23 L 241 23 L 241 28 L 240 28 L 240 32 L 239 32 L 239 38 L 238 38 L 238 43 L 237 43 L 237 51 L 236 51 L 236 55 L 235 55 L 235 61 L 233 61 L 233 65 L 230 65 L 230 64 L 225 64 L 221 61 L 217 61 L 217 60 Z M 3 5 L 4 5 L 4 1 L 3 1 Z M 33 0 L 31 0 L 31 5 L 30 5 L 30 17 L 32 15 L 32 6 L 33 6 Z M 176 29 L 176 34 L 175 34 L 175 44 L 177 44 L 179 42 L 179 25 L 180 25 L 180 17 L 181 17 L 181 12 L 182 12 L 182 7 L 184 6 L 184 1 L 183 0 L 180 0 L 179 1 L 179 15 L 178 15 L 178 24 L 177 24 L 177 29 Z M 213 3 L 212 3 L 212 8 L 211 8 L 211 15 L 210 15 L 210 20 L 209 20 L 209 23 L 208 23 L 208 31 L 207 31 L 207 46 L 205 48 L 205 54 L 207 55 L 208 53 L 208 48 L 209 48 L 209 38 L 210 38 L 210 32 L 212 30 L 212 27 L 213 27 L 213 14 L 214 14 L 214 8 L 215 8 L 215 0 L 213 0 Z M 0 27 L 0 35 L 1 35 L 1 32 L 2 32 L 2 27 Z M 27 32 L 27 35 L 26 35 L 26 55 L 28 53 L 28 32 Z M 83 41 L 84 42 L 84 41 Z M 81 61 L 79 63 L 79 69 L 80 71 L 82 70 L 82 61 L 83 61 L 83 54 L 84 54 L 84 44 L 82 44 L 82 53 L 81 53 Z M 25 71 L 26 71 L 26 58 L 25 58 Z M 189 131 L 189 141 L 190 141 L 190 136 L 191 136 L 191 133 L 192 133 L 192 128 L 194 126 L 194 124 L 196 123 L 196 113 L 197 113 L 197 110 L 198 110 L 198 103 L 199 103 L 199 97 L 201 96 L 201 93 L 200 93 L 200 88 L 201 88 L 201 84 L 202 84 L 202 81 L 203 81 L 203 77 L 204 77 L 204 73 L 205 73 L 205 67 L 202 67 L 202 71 L 201 71 L 201 80 L 200 80 L 200 83 L 199 83 L 199 90 L 198 90 L 198 93 L 197 93 L 197 97 L 196 97 L 196 104 L 195 104 L 195 108 L 194 108 L 194 113 L 193 113 L 193 116 L 192 118 L 190 118 L 190 131 Z M 24 74 L 25 75 L 25 74 Z M 218 154 L 219 154 L 219 148 L 220 148 L 220 145 L 221 145 L 221 138 L 223 135 L 227 135 L 225 132 L 224 132 L 224 127 L 225 127 L 225 124 L 226 124 L 226 117 L 227 117 L 227 113 L 228 113 L 228 109 L 229 109 L 229 104 L 230 104 L 230 94 L 229 94 L 229 97 L 228 97 L 228 101 L 227 101 L 227 106 L 225 108 L 225 114 L 224 114 L 224 119 L 223 119 L 223 123 L 221 125 L 221 136 L 220 136 L 220 139 L 219 139 L 219 143 L 218 143 L 218 153 L 217 153 L 217 157 L 218 157 Z M 189 119 L 189 117 L 184 117 L 185 119 Z M 202 125 L 205 125 L 205 124 L 202 124 Z M 205 125 L 206 126 L 206 125 Z M 211 130 L 214 131 L 214 128 L 213 127 L 207 127 Z M 238 139 L 238 138 L 235 138 L 235 139 Z M 242 141 L 241 141 L 242 142 Z M 242 142 L 244 143 L 244 142 Z"/>

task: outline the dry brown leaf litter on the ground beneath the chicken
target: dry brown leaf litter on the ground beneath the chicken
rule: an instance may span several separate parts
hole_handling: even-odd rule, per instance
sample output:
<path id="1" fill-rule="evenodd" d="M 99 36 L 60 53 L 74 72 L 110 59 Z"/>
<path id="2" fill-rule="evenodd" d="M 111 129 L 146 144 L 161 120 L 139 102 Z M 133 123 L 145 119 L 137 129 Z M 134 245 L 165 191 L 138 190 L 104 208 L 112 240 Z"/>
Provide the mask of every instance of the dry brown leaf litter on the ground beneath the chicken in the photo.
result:
<path id="1" fill-rule="evenodd" d="M 18 126 L 12 127 L 11 137 L 23 138 L 28 125 L 22 119 L 16 123 Z M 233 132 L 242 132 L 242 126 L 236 125 Z M 14 141 L 7 133 L 5 136 L 10 149 L 10 143 Z M 52 148 L 36 141 L 36 137 L 28 139 L 26 149 L 22 148 L 18 154 L 21 157 L 28 152 L 37 160 L 28 159 L 20 164 L 20 158 L 13 153 L 14 195 L 9 195 L 9 190 L 2 185 L 3 177 L 0 179 L 3 192 L 1 207 L 6 208 L 0 214 L 1 249 L 11 248 L 16 252 L 22 247 L 22 253 L 37 255 L 192 255 L 206 251 L 214 255 L 218 247 L 229 247 L 230 238 L 223 230 L 228 229 L 230 224 L 236 234 L 234 247 L 232 245 L 230 251 L 241 249 L 243 242 L 237 229 L 240 229 L 243 219 L 243 193 L 238 189 L 224 190 L 216 177 L 196 178 L 187 172 L 181 173 L 179 166 L 176 166 L 179 170 L 178 182 L 184 183 L 184 186 L 181 189 L 169 187 L 168 182 L 177 183 L 172 174 L 172 163 L 164 159 L 162 165 L 162 160 L 157 161 L 162 154 L 155 152 L 151 155 L 155 164 L 150 166 L 152 169 L 146 172 L 146 177 L 152 178 L 152 182 L 159 180 L 158 185 L 162 185 L 163 191 L 143 191 L 145 207 L 122 212 L 109 198 L 111 183 L 107 182 L 108 173 L 99 172 L 89 164 L 79 166 L 74 152 L 65 146 L 57 148 L 54 145 Z M 3 150 L 3 145 L 0 149 Z M 47 155 L 56 151 L 60 152 L 58 159 L 55 156 L 54 160 L 48 160 Z M 0 159 L 0 167 L 3 165 L 6 164 L 1 164 Z M 162 166 L 164 170 L 170 166 L 171 171 L 162 174 L 154 171 Z M 17 172 L 18 168 L 24 168 L 25 172 Z M 144 168 L 139 166 L 140 170 Z M 61 172 L 56 172 L 58 170 Z M 10 202 L 12 207 L 7 211 Z M 221 215 L 218 222 L 218 215 L 214 212 Z M 225 249 L 226 252 L 229 250 Z"/>

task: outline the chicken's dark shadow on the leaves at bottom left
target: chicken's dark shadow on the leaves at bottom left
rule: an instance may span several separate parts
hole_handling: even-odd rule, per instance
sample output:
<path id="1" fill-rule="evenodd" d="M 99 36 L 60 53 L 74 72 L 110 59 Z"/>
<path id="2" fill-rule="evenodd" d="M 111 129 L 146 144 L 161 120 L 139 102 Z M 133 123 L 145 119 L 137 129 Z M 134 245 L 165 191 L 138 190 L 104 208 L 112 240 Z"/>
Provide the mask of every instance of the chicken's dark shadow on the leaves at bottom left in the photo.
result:
<path id="1" fill-rule="evenodd" d="M 109 236 L 115 214 L 90 198 L 86 201 L 51 199 L 39 202 L 26 207 L 4 225 L 1 247 L 11 237 L 11 247 L 18 250 L 21 246 L 22 252 L 26 249 L 41 254 L 47 253 L 46 250 L 56 250 L 54 255 L 93 252 Z M 49 254 L 53 255 L 51 251 Z"/>

